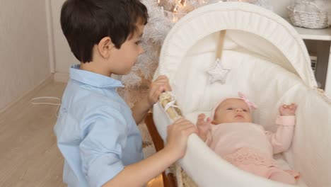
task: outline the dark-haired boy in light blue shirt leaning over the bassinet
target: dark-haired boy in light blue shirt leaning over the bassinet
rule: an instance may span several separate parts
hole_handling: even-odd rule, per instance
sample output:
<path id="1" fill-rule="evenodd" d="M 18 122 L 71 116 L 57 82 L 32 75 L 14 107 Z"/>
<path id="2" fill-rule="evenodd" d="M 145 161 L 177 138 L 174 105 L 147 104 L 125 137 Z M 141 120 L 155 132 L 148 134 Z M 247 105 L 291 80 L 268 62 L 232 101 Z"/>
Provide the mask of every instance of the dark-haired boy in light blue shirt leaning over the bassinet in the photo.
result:
<path id="1" fill-rule="evenodd" d="M 180 119 L 169 126 L 165 148 L 143 160 L 137 124 L 163 91 L 158 77 L 149 96 L 132 111 L 117 94 L 111 74 L 128 74 L 144 52 L 139 42 L 148 14 L 139 0 L 67 0 L 61 25 L 81 62 L 70 69 L 54 127 L 69 186 L 144 186 L 185 154 L 187 137 L 197 132 Z"/>

